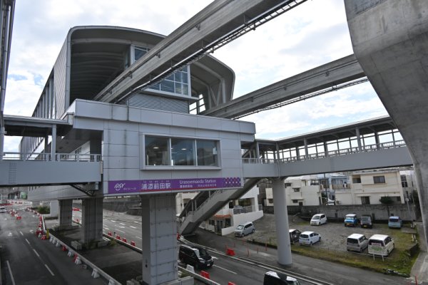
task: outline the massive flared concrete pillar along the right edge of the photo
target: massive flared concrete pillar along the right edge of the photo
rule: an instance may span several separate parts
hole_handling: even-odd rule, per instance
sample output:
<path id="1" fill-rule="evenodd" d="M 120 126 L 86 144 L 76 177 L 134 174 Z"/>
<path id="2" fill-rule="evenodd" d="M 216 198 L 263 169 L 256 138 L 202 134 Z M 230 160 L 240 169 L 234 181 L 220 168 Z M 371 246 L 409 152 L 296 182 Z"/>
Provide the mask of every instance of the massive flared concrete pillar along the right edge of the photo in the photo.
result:
<path id="1" fill-rule="evenodd" d="M 345 0 L 345 10 L 355 57 L 412 155 L 427 237 L 428 1 Z"/>

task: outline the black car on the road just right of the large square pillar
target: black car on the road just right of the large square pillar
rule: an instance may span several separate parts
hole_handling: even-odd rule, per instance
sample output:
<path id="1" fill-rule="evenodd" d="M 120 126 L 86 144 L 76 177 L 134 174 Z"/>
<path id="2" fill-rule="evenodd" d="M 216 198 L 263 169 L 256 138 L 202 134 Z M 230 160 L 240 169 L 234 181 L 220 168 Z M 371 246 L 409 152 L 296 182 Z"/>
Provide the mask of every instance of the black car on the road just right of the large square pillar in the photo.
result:
<path id="1" fill-rule="evenodd" d="M 195 267 L 195 269 L 208 268 L 214 264 L 213 257 L 203 247 L 180 245 L 178 259 L 184 264 Z"/>

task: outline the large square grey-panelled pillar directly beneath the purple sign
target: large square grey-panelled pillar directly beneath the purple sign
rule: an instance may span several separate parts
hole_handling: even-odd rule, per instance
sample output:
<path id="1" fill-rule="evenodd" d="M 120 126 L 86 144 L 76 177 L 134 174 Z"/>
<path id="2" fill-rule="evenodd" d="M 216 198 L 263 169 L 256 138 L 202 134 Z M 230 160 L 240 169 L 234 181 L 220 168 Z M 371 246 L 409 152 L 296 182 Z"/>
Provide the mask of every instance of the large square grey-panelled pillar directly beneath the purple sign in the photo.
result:
<path id="1" fill-rule="evenodd" d="M 178 278 L 175 195 L 142 195 L 143 281 L 163 284 Z"/>

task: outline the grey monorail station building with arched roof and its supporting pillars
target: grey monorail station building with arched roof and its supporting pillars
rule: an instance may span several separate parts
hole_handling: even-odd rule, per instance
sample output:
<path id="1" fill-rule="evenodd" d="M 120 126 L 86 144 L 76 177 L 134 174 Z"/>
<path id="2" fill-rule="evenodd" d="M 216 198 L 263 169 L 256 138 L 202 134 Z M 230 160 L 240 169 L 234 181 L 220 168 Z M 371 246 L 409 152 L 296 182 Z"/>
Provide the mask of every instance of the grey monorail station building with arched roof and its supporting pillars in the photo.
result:
<path id="1" fill-rule="evenodd" d="M 82 161 L 82 171 L 51 170 L 54 185 L 30 187 L 29 199 L 59 200 L 60 227 L 71 225 L 72 201 L 82 199 L 83 243 L 103 237 L 103 197 L 141 195 L 148 284 L 177 277 L 176 192 L 242 187 L 241 144 L 255 135 L 253 123 L 190 114 L 232 98 L 235 75 L 212 56 L 113 103 L 96 99 L 162 39 L 132 28 L 71 28 L 33 113 L 66 123 L 20 144 L 41 160 Z"/>

